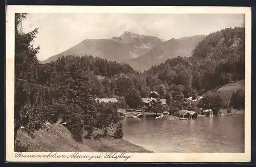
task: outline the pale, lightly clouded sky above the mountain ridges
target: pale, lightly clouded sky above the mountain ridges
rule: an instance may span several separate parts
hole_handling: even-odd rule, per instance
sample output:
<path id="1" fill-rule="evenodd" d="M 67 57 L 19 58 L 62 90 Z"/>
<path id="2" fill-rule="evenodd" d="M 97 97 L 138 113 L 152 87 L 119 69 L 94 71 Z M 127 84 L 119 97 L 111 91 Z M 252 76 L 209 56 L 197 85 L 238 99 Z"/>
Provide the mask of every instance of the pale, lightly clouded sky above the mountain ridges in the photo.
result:
<path id="1" fill-rule="evenodd" d="M 244 14 L 100 14 L 29 13 L 25 33 L 39 27 L 34 46 L 46 60 L 84 39 L 109 39 L 125 31 L 168 40 L 208 35 L 226 27 L 244 26 Z"/>

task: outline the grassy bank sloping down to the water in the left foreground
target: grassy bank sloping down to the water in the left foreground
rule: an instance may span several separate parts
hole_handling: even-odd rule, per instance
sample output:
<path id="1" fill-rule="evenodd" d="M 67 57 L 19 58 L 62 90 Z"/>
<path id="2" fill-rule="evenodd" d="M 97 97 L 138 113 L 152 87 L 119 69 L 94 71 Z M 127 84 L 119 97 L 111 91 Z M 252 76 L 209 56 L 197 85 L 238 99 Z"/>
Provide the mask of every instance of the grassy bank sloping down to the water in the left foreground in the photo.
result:
<path id="1" fill-rule="evenodd" d="M 47 125 L 46 129 L 35 131 L 33 137 L 22 130 L 17 132 L 19 145 L 26 147 L 29 152 L 151 152 L 122 139 L 102 137 L 83 139 L 76 142 L 70 131 L 61 124 Z M 24 148 L 17 148 L 15 151 Z"/>

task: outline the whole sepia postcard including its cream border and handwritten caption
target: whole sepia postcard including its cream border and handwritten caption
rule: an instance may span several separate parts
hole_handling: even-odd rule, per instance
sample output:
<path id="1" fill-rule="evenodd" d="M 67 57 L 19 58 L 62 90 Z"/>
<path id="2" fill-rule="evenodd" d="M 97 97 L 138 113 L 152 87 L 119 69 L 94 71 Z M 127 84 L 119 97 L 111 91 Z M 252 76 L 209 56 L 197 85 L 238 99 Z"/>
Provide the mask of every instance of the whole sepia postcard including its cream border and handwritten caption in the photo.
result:
<path id="1" fill-rule="evenodd" d="M 94 8 L 7 8 L 10 157 L 250 160 L 250 9 Z"/>

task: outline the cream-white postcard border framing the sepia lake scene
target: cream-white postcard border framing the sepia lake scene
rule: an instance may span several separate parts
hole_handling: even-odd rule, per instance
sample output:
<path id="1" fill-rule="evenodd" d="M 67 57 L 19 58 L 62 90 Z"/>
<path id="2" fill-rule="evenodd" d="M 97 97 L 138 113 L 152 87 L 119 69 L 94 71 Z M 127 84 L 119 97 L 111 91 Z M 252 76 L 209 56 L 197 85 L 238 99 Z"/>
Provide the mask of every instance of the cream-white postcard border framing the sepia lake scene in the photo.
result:
<path id="1" fill-rule="evenodd" d="M 120 6 L 7 6 L 6 25 L 6 160 L 29 162 L 121 162 L 122 159 L 15 158 L 14 152 L 14 13 L 241 13 L 245 14 L 245 153 L 127 153 L 126 162 L 249 162 L 251 158 L 251 9 L 249 7 L 120 7 Z M 27 152 L 47 155 L 48 152 Z M 67 152 L 58 152 L 68 155 Z M 86 155 L 87 153 L 80 153 Z M 99 155 L 104 153 L 90 153 Z"/>

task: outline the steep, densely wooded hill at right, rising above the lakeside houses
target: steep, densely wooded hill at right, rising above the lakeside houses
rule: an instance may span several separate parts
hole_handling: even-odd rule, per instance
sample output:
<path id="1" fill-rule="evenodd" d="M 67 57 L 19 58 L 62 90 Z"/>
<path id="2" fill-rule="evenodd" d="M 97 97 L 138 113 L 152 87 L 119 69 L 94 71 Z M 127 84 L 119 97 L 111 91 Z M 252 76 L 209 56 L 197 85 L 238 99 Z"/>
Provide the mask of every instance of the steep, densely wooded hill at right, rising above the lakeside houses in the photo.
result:
<path id="1" fill-rule="evenodd" d="M 190 58 L 174 58 L 153 66 L 145 74 L 183 85 L 185 96 L 192 90 L 205 92 L 245 77 L 244 28 L 228 28 L 209 34 Z"/>

